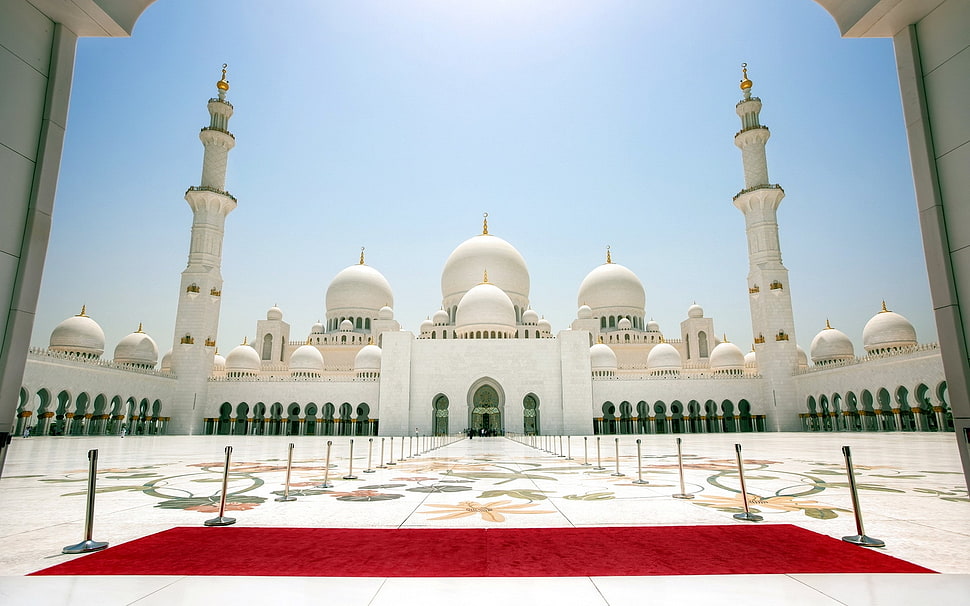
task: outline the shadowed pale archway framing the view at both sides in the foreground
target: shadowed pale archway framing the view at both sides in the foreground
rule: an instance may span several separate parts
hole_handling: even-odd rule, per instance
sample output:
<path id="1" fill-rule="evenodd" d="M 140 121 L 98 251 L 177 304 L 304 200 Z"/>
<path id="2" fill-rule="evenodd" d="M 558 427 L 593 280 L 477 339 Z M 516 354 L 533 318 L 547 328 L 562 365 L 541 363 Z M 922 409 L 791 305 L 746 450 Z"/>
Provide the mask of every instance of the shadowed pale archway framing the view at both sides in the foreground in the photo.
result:
<path id="1" fill-rule="evenodd" d="M 970 8 L 965 0 L 814 0 L 849 38 L 893 39 L 954 426 L 970 487 Z M 3 107 L 0 145 L 30 163 L 3 169 L 0 224 L 0 473 L 9 445 L 50 235 L 54 193 L 80 36 L 129 36 L 154 0 L 10 0 L 0 52 L 19 103 Z M 18 71 L 19 70 L 19 71 Z M 37 85 L 37 74 L 46 78 Z M 176 403 L 177 404 L 177 403 Z"/>

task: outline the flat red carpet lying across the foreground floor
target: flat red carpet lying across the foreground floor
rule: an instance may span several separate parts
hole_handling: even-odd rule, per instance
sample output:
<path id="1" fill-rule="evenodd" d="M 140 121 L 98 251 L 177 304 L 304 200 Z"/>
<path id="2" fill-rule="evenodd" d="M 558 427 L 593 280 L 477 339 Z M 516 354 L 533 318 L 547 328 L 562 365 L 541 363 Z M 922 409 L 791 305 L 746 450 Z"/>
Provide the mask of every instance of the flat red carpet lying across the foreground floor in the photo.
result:
<path id="1" fill-rule="evenodd" d="M 788 524 L 173 528 L 35 575 L 571 577 L 933 572 Z"/>

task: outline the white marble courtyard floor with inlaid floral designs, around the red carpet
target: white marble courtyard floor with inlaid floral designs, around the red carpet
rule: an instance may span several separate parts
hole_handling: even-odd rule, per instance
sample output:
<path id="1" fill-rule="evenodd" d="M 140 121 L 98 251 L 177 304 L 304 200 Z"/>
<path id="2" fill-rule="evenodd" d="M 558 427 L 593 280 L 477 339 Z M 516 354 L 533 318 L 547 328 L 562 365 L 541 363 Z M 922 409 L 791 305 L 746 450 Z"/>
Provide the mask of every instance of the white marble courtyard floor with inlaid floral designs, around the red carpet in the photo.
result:
<path id="1" fill-rule="evenodd" d="M 638 459 L 637 439 L 641 443 Z M 347 437 L 15 439 L 0 478 L 0 604 L 648 602 L 970 604 L 970 499 L 953 434 L 684 435 L 456 440 Z M 333 442 L 329 470 L 327 441 Z M 763 524 L 855 534 L 841 447 L 849 445 L 866 533 L 886 554 L 941 575 L 571 578 L 28 577 L 72 557 L 84 534 L 87 453 L 98 450 L 94 539 L 117 545 L 216 515 L 224 448 L 233 447 L 227 515 L 244 526 L 564 527 L 745 524 L 735 461 Z M 282 494 L 293 443 L 290 494 Z M 403 446 L 403 451 L 401 450 Z M 383 459 L 380 457 L 384 449 Z M 403 458 L 402 458 L 403 453 Z M 617 457 L 617 453 L 619 456 Z M 567 459 L 571 455 L 572 459 Z M 640 462 L 638 469 L 638 460 Z M 584 463 L 588 463 L 585 465 Z M 616 475 L 617 473 L 622 475 Z M 344 476 L 356 479 L 344 479 Z M 332 488 L 320 488 L 327 476 Z M 635 483 L 642 477 L 647 483 Z M 530 515 L 524 515 L 530 514 Z M 861 549 L 861 548 L 860 548 Z M 618 549 L 618 557 L 622 550 Z M 731 554 L 725 554 L 731 557 Z"/>

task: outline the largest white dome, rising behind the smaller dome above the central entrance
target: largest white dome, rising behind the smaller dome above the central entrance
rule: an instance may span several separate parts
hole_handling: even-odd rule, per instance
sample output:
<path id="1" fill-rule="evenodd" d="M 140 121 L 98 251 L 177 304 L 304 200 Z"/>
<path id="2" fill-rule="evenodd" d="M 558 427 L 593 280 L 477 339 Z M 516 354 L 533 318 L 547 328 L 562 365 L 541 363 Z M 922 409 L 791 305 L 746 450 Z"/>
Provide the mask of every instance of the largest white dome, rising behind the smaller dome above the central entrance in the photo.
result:
<path id="1" fill-rule="evenodd" d="M 466 292 L 478 286 L 482 274 L 509 296 L 520 310 L 529 307 L 529 269 L 514 246 L 488 233 L 465 240 L 445 261 L 441 272 L 441 298 L 445 309 L 458 305 Z"/>

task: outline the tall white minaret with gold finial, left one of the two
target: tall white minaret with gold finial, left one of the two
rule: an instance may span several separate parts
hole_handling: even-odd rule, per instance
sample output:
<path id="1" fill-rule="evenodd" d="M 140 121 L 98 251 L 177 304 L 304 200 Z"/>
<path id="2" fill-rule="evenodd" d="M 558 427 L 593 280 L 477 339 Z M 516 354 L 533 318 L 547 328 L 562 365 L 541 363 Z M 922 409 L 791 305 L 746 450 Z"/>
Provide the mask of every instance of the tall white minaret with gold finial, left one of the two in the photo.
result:
<path id="1" fill-rule="evenodd" d="M 225 190 L 226 160 L 236 144 L 229 132 L 232 105 L 226 101 L 226 67 L 222 65 L 222 79 L 216 82 L 218 96 L 209 99 L 209 125 L 199 133 L 205 148 L 202 183 L 185 192 L 185 201 L 192 208 L 192 239 L 188 265 L 182 272 L 172 344 L 172 372 L 178 382 L 169 408 L 169 432 L 176 434 L 201 431 L 206 416 L 222 299 L 222 237 L 226 216 L 236 208 L 236 199 Z"/>

